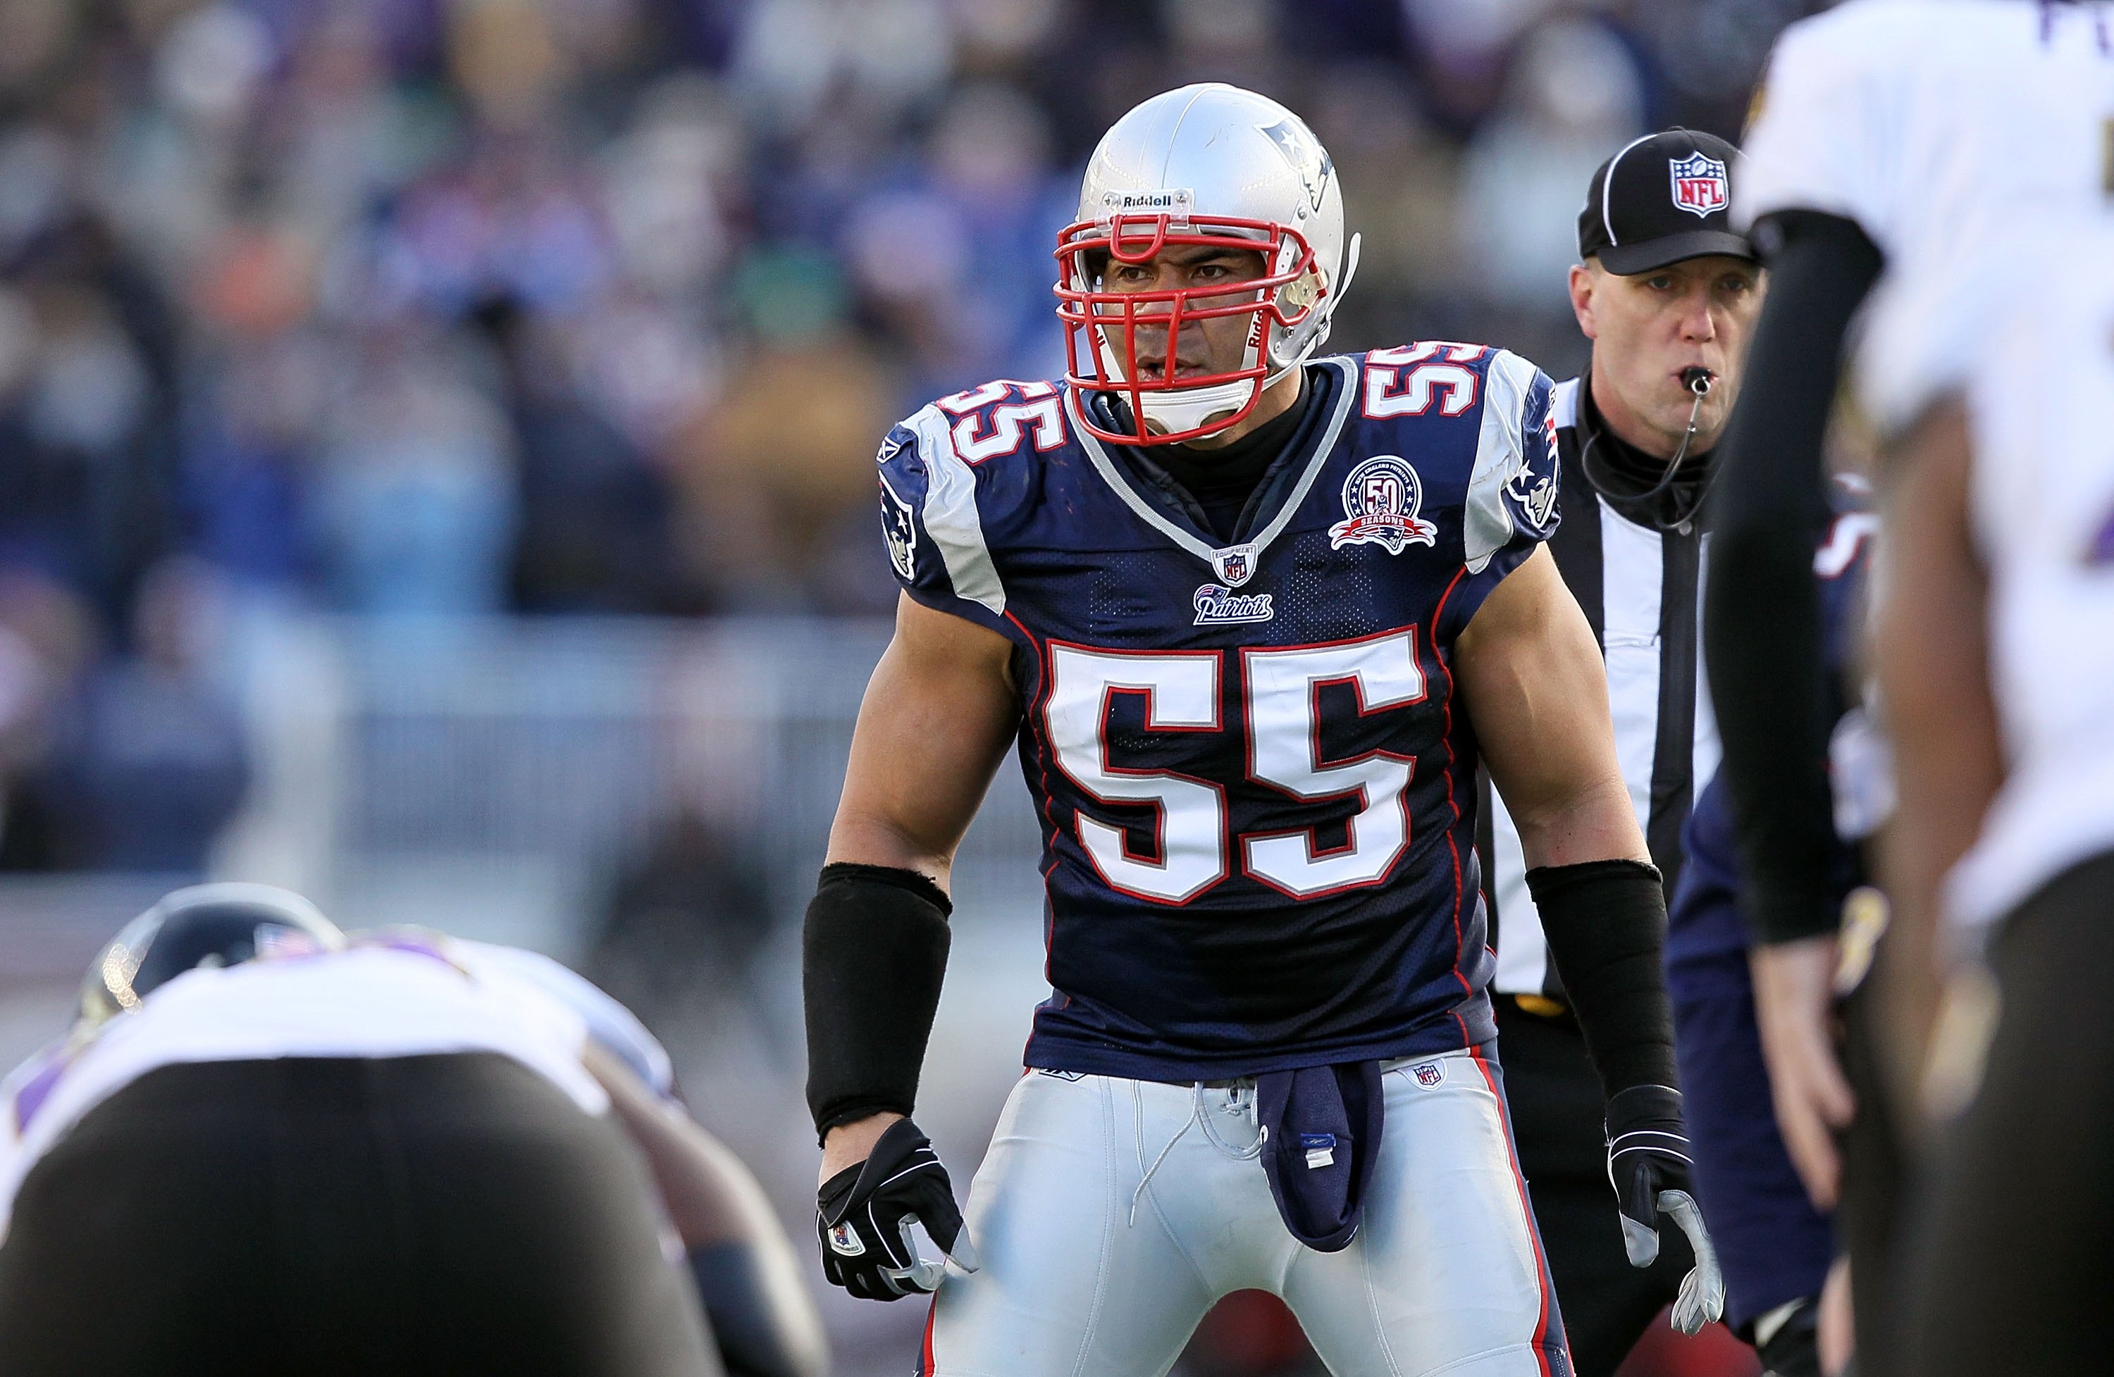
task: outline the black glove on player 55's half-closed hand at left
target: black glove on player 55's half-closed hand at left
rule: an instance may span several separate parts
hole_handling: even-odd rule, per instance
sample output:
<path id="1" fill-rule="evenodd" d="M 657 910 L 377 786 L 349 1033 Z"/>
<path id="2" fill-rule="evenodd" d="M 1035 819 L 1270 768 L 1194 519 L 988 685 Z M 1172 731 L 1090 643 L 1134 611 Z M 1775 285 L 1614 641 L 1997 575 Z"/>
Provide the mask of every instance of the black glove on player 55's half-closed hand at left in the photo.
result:
<path id="1" fill-rule="evenodd" d="M 937 1290 L 947 1267 L 917 1257 L 911 1223 L 924 1223 L 932 1242 L 964 1271 L 977 1269 L 962 1210 L 953 1204 L 953 1183 L 932 1151 L 932 1138 L 909 1119 L 896 1119 L 863 1164 L 822 1183 L 816 1200 L 822 1276 L 869 1301 Z"/>

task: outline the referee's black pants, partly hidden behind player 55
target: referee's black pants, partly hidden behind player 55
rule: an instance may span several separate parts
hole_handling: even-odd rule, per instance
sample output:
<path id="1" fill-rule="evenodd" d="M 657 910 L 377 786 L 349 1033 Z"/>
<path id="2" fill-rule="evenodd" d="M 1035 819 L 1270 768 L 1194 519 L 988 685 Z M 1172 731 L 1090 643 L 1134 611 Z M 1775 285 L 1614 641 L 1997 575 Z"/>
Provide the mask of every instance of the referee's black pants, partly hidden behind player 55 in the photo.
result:
<path id="1" fill-rule="evenodd" d="M 1607 1181 L 1607 1100 L 1571 1016 L 1541 1018 L 1495 995 L 1497 1054 L 1520 1170 L 1556 1278 L 1577 1377 L 1609 1377 L 1695 1265 L 1687 1235 L 1666 1221 L 1659 1261 L 1632 1267 Z"/>

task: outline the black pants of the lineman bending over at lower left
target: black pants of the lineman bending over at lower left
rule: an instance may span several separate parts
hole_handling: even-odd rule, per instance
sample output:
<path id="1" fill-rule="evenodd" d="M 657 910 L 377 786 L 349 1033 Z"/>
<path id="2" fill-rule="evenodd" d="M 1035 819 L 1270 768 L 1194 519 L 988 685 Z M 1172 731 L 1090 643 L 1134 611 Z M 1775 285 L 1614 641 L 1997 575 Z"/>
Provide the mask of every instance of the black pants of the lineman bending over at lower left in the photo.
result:
<path id="1" fill-rule="evenodd" d="M 617 1128 L 495 1054 L 199 1062 L 93 1109 L 0 1248 L 8 1377 L 712 1377 Z"/>

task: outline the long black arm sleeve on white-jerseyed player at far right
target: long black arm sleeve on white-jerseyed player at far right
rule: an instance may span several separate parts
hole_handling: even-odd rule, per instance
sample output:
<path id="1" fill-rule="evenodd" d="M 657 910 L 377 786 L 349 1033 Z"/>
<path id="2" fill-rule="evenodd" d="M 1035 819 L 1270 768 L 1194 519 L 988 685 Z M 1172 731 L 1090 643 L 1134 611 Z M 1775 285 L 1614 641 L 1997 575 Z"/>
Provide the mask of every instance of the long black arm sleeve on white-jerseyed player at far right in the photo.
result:
<path id="1" fill-rule="evenodd" d="M 1725 792 L 1759 942 L 1835 929 L 1829 686 L 1814 585 L 1826 520 L 1822 435 L 1843 334 L 1879 277 L 1850 220 L 1786 211 L 1757 226 L 1769 298 L 1719 450 L 1704 653 Z"/>

